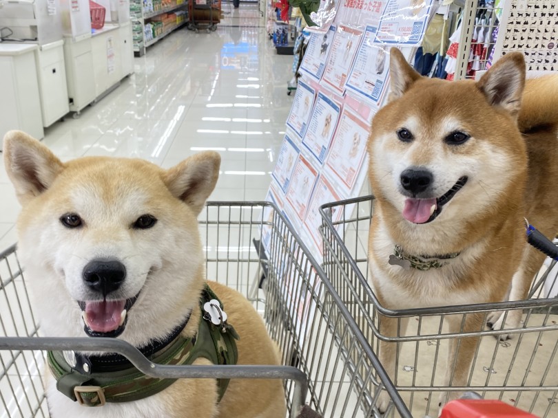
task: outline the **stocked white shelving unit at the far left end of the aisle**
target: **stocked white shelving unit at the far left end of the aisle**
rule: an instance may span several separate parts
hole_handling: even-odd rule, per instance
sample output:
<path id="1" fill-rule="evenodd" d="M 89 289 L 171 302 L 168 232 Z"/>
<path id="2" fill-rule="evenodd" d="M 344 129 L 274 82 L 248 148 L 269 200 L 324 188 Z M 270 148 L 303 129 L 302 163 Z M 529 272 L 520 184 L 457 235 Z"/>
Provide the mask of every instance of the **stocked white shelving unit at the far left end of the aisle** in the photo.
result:
<path id="1" fill-rule="evenodd" d="M 145 3 L 143 0 L 130 0 L 130 17 L 132 19 L 132 32 L 134 42 L 134 53 L 137 56 L 145 54 L 147 47 L 154 43 L 161 41 L 165 36 L 174 32 L 178 28 L 183 27 L 188 23 L 187 19 L 188 0 L 178 0 L 176 3 L 167 5 L 160 10 L 146 11 Z M 176 21 L 175 25 L 171 25 L 156 36 L 146 36 L 146 25 L 152 21 L 156 21 L 156 17 L 165 13 L 180 12 L 183 15 L 181 21 Z"/>

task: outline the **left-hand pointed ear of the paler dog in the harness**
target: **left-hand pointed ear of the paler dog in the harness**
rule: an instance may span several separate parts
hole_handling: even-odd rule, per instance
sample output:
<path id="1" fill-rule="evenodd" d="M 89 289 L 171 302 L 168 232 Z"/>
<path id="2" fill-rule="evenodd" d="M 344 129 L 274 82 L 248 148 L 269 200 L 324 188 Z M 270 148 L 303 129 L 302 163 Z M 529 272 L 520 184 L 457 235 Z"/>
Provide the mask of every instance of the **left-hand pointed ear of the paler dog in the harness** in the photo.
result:
<path id="1" fill-rule="evenodd" d="M 46 146 L 21 131 L 4 136 L 4 165 L 22 205 L 47 190 L 64 169 Z"/>

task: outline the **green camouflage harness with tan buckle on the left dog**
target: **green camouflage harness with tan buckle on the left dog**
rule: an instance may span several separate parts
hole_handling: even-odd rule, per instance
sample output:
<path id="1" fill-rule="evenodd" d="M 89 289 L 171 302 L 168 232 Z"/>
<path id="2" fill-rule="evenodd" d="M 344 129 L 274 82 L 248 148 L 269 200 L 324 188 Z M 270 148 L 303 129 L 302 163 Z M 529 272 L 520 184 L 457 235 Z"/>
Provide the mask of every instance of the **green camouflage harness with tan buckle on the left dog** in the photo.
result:
<path id="1" fill-rule="evenodd" d="M 184 338 L 178 335 L 149 360 L 156 364 L 178 366 L 192 364 L 198 358 L 205 358 L 213 364 L 236 364 L 238 352 L 235 340 L 238 340 L 238 334 L 223 320 L 220 325 L 211 322 L 211 317 L 204 309 L 204 305 L 211 300 L 218 302 L 218 311 L 221 313 L 223 304 L 205 285 L 200 298 L 202 318 L 196 336 Z M 81 373 L 68 364 L 62 351 L 48 351 L 48 366 L 56 379 L 56 388 L 72 401 L 79 401 L 85 406 L 136 401 L 163 391 L 177 380 L 149 377 L 131 363 L 125 369 L 120 367 L 102 373 Z M 218 379 L 217 384 L 220 401 L 229 380 Z"/>

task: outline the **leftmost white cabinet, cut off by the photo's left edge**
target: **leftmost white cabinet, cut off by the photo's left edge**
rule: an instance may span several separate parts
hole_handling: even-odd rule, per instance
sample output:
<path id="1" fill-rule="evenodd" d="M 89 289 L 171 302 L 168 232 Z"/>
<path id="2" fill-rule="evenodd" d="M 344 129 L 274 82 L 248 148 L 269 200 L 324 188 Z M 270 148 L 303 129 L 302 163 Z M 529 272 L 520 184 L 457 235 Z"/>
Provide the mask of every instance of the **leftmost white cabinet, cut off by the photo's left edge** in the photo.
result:
<path id="1" fill-rule="evenodd" d="M 37 45 L 0 44 L 1 138 L 11 129 L 44 136 L 35 50 Z"/>

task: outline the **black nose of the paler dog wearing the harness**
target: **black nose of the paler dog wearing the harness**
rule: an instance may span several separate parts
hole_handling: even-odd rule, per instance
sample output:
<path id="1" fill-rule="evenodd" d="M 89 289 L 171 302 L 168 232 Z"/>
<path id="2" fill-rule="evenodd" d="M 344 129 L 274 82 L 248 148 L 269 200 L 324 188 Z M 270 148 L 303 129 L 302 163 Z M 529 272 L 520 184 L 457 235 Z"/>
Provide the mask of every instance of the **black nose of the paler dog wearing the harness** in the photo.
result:
<path id="1" fill-rule="evenodd" d="M 83 280 L 90 289 L 107 296 L 121 287 L 126 267 L 116 260 L 92 260 L 83 268 Z"/>

